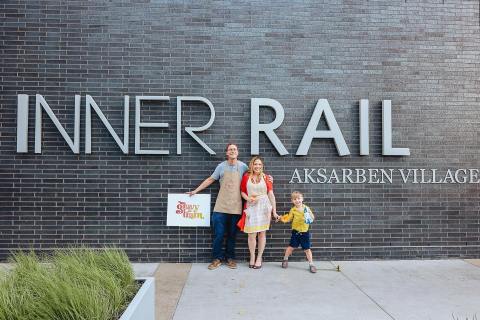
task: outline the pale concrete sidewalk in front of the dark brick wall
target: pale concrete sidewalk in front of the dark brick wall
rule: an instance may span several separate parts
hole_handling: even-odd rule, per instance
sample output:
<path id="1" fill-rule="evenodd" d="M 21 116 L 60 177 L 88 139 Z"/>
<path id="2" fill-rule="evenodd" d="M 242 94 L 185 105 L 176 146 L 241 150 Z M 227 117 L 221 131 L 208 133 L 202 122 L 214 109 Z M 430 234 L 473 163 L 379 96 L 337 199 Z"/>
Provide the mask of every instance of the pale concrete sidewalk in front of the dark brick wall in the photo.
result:
<path id="1" fill-rule="evenodd" d="M 305 262 L 153 265 L 162 320 L 480 319 L 480 260 L 318 262 L 316 274 Z"/>

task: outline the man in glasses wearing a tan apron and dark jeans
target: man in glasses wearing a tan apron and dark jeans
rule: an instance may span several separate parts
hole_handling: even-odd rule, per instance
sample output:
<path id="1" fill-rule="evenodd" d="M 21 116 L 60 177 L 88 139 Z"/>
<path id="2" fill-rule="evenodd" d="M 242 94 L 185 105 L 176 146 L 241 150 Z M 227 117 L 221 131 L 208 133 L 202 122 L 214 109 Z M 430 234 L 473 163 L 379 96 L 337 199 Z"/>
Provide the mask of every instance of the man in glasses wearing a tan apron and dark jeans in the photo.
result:
<path id="1" fill-rule="evenodd" d="M 225 149 L 227 160 L 217 165 L 213 174 L 205 179 L 195 190 L 187 192 L 190 196 L 202 191 L 215 181 L 220 182 L 220 191 L 212 213 L 213 243 L 212 263 L 208 269 L 214 270 L 225 260 L 227 267 L 236 269 L 235 241 L 237 237 L 237 222 L 242 213 L 242 196 L 240 182 L 248 166 L 239 161 L 238 147 L 229 143 Z M 223 252 L 223 236 L 227 233 L 227 243 Z"/>

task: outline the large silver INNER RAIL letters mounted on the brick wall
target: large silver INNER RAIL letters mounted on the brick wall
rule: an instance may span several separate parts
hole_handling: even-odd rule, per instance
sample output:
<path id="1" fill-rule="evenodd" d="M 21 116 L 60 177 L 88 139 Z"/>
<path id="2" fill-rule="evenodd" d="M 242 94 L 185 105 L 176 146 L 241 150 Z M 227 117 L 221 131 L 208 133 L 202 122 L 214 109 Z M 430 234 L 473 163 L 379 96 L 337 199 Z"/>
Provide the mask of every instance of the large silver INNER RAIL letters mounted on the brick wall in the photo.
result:
<path id="1" fill-rule="evenodd" d="M 163 122 L 142 122 L 140 116 L 140 107 L 142 101 L 169 101 L 168 96 L 137 96 L 135 98 L 135 154 L 158 154 L 167 155 L 169 150 L 144 150 L 140 146 L 141 128 L 168 128 L 168 123 Z M 74 139 L 70 138 L 52 109 L 45 101 L 42 95 L 37 94 L 35 97 L 36 114 L 35 114 L 35 153 L 42 152 L 42 110 L 48 114 L 57 130 L 67 142 L 73 153 L 80 153 L 80 95 L 75 95 L 75 118 L 74 118 Z M 98 115 L 103 125 L 107 128 L 117 145 L 124 154 L 128 154 L 129 139 L 129 114 L 130 103 L 129 96 L 124 97 L 123 112 L 123 142 L 117 135 L 110 122 L 107 120 L 102 110 L 99 108 L 95 100 L 90 96 L 85 96 L 85 154 L 92 152 L 92 108 Z M 197 96 L 178 96 L 177 97 L 177 154 L 182 154 L 182 103 L 184 101 L 196 101 L 206 104 L 210 110 L 210 119 L 201 127 L 185 127 L 185 131 L 204 148 L 209 154 L 214 155 L 215 152 L 203 142 L 196 132 L 205 131 L 210 128 L 215 121 L 215 109 L 210 100 Z M 28 152 L 28 114 L 29 114 L 29 96 L 19 94 L 17 100 L 17 153 Z M 360 155 L 370 154 L 369 150 L 369 102 L 368 99 L 361 99 L 359 106 L 359 123 L 360 123 Z M 285 112 L 282 105 L 274 99 L 268 98 L 252 98 L 251 99 L 251 121 L 250 121 L 250 153 L 252 155 L 259 154 L 259 136 L 260 132 L 264 132 L 270 142 L 273 144 L 279 155 L 288 154 L 287 149 L 278 138 L 275 130 L 278 129 L 285 118 Z M 260 123 L 260 107 L 269 107 L 273 109 L 275 118 L 270 123 Z M 322 116 L 325 115 L 325 121 L 328 130 L 317 130 L 318 123 Z M 345 142 L 342 131 L 333 115 L 332 109 L 326 99 L 319 99 L 315 105 L 310 121 L 305 129 L 300 145 L 297 149 L 297 156 L 308 155 L 308 151 L 313 139 L 333 139 L 337 152 L 340 156 L 350 154 L 350 150 Z M 390 100 L 382 101 L 382 155 L 384 156 L 409 156 L 409 148 L 393 148 L 392 147 L 392 103 Z"/>

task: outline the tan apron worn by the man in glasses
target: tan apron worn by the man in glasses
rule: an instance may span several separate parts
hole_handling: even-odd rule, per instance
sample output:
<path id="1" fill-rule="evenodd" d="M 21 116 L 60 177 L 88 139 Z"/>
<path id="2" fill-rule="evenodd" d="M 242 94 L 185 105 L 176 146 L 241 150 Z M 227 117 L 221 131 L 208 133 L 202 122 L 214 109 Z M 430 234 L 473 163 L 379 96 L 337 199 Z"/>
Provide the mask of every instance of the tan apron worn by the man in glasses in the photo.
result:
<path id="1" fill-rule="evenodd" d="M 230 214 L 242 213 L 241 181 L 242 177 L 240 177 L 238 165 L 236 171 L 225 170 L 213 211 Z"/>

